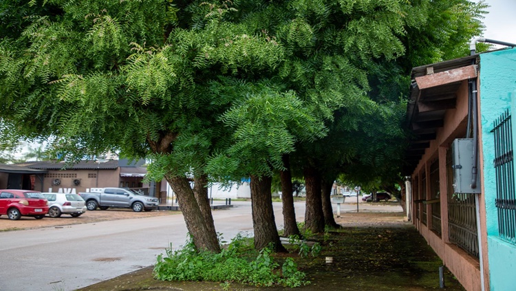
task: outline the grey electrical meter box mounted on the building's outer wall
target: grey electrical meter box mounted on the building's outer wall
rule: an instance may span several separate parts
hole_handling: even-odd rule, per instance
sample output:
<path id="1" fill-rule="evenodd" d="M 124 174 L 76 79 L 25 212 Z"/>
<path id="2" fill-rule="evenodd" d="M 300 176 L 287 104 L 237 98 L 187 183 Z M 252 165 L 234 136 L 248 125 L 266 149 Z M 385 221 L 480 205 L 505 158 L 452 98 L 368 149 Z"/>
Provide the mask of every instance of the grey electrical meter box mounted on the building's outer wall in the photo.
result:
<path id="1" fill-rule="evenodd" d="M 480 193 L 480 162 L 477 160 L 477 185 L 473 180 L 473 138 L 457 138 L 451 143 L 451 168 L 454 193 Z"/>

